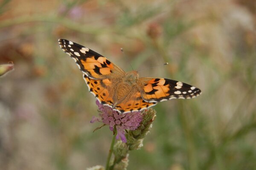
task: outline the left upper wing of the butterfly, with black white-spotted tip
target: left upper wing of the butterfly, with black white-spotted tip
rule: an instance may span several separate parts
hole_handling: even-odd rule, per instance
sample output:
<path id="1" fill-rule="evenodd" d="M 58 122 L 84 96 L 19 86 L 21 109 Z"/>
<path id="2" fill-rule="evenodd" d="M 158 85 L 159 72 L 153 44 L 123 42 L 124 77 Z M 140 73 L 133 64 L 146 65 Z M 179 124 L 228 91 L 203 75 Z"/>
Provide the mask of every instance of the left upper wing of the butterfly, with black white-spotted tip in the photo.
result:
<path id="1" fill-rule="evenodd" d="M 59 39 L 61 49 L 72 57 L 79 69 L 91 79 L 105 79 L 115 74 L 123 76 L 125 72 L 106 57 L 75 42 Z"/>

